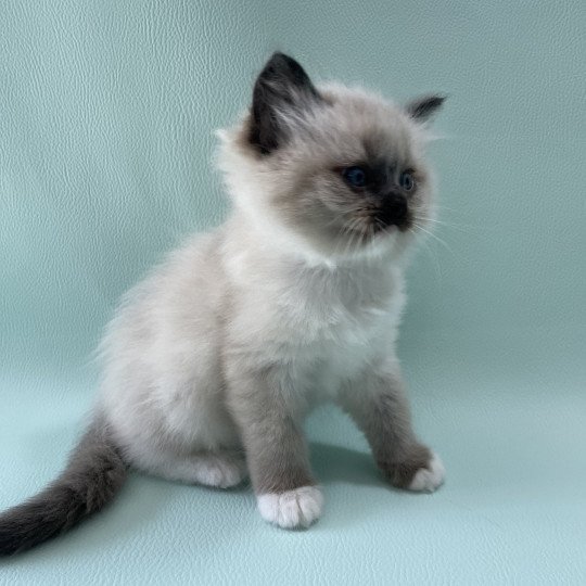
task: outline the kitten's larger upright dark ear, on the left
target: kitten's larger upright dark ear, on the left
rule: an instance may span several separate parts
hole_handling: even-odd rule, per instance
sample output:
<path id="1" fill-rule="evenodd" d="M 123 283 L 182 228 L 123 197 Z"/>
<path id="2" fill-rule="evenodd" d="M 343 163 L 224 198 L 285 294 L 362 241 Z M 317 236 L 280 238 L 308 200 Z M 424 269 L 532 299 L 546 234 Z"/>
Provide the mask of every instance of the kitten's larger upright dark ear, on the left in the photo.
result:
<path id="1" fill-rule="evenodd" d="M 286 138 L 286 128 L 278 113 L 288 109 L 303 111 L 321 101 L 303 67 L 283 53 L 273 53 L 256 79 L 251 109 L 249 141 L 262 154 L 278 149 Z"/>

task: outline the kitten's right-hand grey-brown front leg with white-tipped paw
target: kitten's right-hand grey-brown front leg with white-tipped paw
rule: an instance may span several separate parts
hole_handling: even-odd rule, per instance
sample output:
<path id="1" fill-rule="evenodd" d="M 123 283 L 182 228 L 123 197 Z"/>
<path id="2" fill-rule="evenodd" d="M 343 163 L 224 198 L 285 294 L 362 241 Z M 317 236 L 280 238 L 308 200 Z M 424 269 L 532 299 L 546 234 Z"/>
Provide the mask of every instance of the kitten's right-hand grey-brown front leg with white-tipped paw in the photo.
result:
<path id="1" fill-rule="evenodd" d="M 379 468 L 394 486 L 433 492 L 444 482 L 442 461 L 417 440 L 411 426 L 396 360 L 345 384 L 340 403 L 364 431 Z"/>

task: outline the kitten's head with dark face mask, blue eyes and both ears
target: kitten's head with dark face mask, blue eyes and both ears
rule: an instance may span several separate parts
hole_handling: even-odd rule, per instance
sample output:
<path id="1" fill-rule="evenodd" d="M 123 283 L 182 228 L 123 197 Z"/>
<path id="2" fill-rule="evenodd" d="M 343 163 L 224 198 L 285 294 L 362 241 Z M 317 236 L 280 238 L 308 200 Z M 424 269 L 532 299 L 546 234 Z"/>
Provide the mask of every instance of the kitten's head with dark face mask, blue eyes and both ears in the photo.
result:
<path id="1" fill-rule="evenodd" d="M 328 258 L 400 252 L 432 216 L 425 123 L 443 101 L 402 107 L 360 89 L 316 87 L 275 53 L 250 112 L 219 133 L 220 168 L 270 245 Z"/>

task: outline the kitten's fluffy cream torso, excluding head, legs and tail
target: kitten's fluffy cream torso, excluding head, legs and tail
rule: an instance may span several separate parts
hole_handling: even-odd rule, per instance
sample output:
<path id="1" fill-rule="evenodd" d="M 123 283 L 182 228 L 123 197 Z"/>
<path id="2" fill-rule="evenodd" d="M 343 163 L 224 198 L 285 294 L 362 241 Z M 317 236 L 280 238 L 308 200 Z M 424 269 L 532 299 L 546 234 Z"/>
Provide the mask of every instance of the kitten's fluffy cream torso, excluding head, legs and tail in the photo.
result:
<path id="1" fill-rule="evenodd" d="M 242 449 L 229 407 L 239 371 L 278 372 L 275 392 L 300 420 L 340 399 L 344 381 L 394 356 L 403 277 L 385 265 L 309 266 L 238 214 L 175 252 L 102 343 L 99 408 L 127 459 L 173 477 L 169 457 Z"/>

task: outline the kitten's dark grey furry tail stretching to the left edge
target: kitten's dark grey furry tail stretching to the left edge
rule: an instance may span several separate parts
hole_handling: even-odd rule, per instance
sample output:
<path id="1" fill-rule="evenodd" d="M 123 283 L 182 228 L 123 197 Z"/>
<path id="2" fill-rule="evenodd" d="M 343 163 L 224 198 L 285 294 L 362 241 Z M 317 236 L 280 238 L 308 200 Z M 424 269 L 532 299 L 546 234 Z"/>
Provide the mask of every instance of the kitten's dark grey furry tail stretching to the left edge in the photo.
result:
<path id="1" fill-rule="evenodd" d="M 109 426 L 98 418 L 55 481 L 22 505 L 0 513 L 0 557 L 55 537 L 99 511 L 125 477 L 126 464 Z"/>

